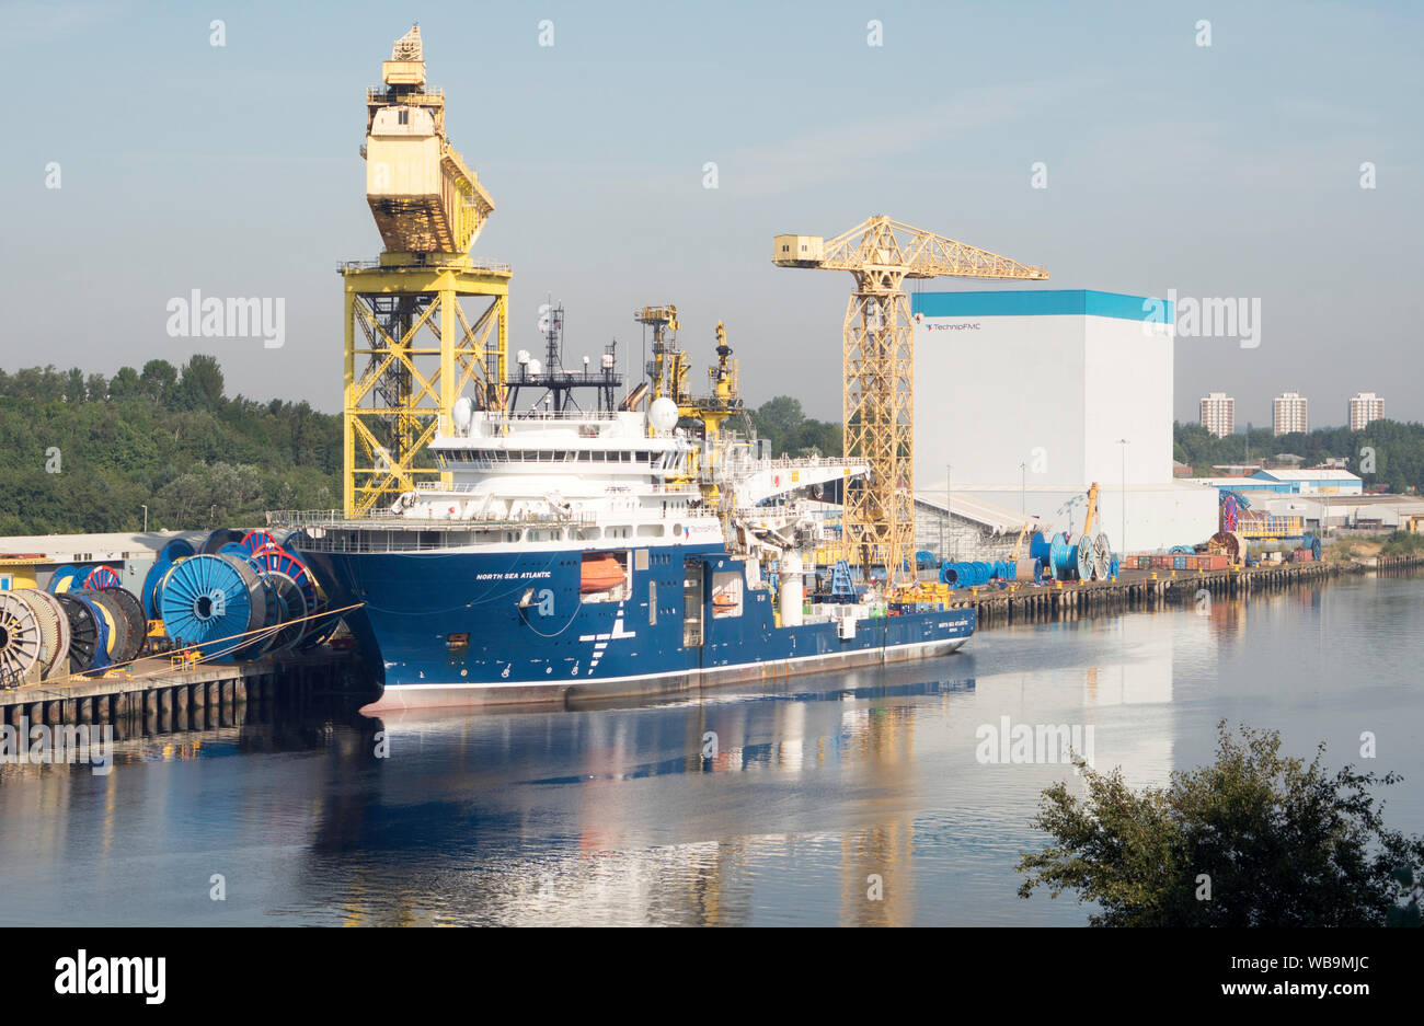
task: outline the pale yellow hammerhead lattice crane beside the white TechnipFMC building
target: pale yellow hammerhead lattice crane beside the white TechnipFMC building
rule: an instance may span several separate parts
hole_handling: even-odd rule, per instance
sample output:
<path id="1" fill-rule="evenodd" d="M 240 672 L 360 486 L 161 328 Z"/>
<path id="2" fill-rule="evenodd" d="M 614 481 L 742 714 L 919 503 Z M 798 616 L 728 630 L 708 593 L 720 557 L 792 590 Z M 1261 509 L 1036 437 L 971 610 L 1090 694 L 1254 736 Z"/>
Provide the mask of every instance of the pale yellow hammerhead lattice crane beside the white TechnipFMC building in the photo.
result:
<path id="1" fill-rule="evenodd" d="M 870 472 L 846 485 L 843 548 L 869 575 L 884 566 L 904 579 L 914 548 L 914 332 L 907 277 L 1015 277 L 1044 280 L 1044 268 L 998 256 L 943 235 L 876 215 L 833 239 L 778 235 L 779 268 L 849 270 L 856 289 L 846 307 L 843 339 L 844 455 Z"/>

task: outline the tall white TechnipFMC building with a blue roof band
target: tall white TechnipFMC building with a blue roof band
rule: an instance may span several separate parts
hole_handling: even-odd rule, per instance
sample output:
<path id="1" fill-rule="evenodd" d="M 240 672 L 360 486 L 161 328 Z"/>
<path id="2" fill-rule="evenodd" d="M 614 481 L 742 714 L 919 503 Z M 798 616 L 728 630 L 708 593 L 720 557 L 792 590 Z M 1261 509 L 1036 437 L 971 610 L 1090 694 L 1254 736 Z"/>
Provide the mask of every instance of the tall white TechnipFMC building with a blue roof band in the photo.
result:
<path id="1" fill-rule="evenodd" d="M 1169 303 L 1034 289 L 926 292 L 911 309 L 917 497 L 1077 531 L 1096 481 L 1116 551 L 1216 531 L 1216 490 L 1172 474 Z"/>

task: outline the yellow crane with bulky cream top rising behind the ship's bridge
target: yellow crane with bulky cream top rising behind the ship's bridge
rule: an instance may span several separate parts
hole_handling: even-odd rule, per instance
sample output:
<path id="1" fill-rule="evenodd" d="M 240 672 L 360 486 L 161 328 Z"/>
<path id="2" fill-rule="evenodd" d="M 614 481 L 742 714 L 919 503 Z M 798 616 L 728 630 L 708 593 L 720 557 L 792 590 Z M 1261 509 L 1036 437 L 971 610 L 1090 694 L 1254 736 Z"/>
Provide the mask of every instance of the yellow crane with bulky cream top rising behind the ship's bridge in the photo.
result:
<path id="1" fill-rule="evenodd" d="M 386 250 L 340 266 L 347 515 L 441 477 L 424 447 L 449 430 L 466 386 L 476 408 L 504 404 L 513 272 L 470 258 L 494 201 L 446 137 L 444 92 L 426 88 L 419 27 L 380 70 L 383 85 L 366 91 L 362 157 Z"/>

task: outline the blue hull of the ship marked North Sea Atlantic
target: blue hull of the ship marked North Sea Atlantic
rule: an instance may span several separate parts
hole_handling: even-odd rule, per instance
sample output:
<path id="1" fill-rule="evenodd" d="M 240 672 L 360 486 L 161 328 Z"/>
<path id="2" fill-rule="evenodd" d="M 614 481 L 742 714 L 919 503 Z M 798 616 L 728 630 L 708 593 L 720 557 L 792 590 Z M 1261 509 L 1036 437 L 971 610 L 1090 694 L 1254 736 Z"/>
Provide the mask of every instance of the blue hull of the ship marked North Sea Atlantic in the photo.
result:
<path id="1" fill-rule="evenodd" d="M 768 589 L 725 615 L 713 575 L 743 564 L 722 546 L 634 548 L 628 596 L 587 601 L 582 555 L 302 551 L 332 605 L 365 603 L 346 620 L 382 676 L 367 712 L 674 694 L 946 655 L 974 633 L 973 609 L 862 619 L 849 638 L 834 622 L 778 628 Z"/>

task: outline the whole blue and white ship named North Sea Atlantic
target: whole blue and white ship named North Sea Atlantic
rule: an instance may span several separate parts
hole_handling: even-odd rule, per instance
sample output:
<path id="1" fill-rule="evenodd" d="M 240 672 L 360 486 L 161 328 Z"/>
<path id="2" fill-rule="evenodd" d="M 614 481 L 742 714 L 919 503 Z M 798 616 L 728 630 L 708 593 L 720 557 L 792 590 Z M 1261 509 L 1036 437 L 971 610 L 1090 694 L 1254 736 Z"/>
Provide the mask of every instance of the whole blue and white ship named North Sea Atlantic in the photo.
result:
<path id="1" fill-rule="evenodd" d="M 289 545 L 332 603 L 360 603 L 347 625 L 383 684 L 366 712 L 669 694 L 938 656 L 970 638 L 973 608 L 857 591 L 844 565 L 839 595 L 805 591 L 807 558 L 829 546 L 823 504 L 797 492 L 866 467 L 770 458 L 726 430 L 742 403 L 721 324 L 711 397 L 686 394 L 686 356 L 659 332 L 651 390 L 615 406 L 612 354 L 601 371 L 558 369 L 561 320 L 548 366 L 518 354 L 504 408 L 456 403 L 430 443 L 441 481 L 365 517 L 273 514 L 299 528 Z"/>

